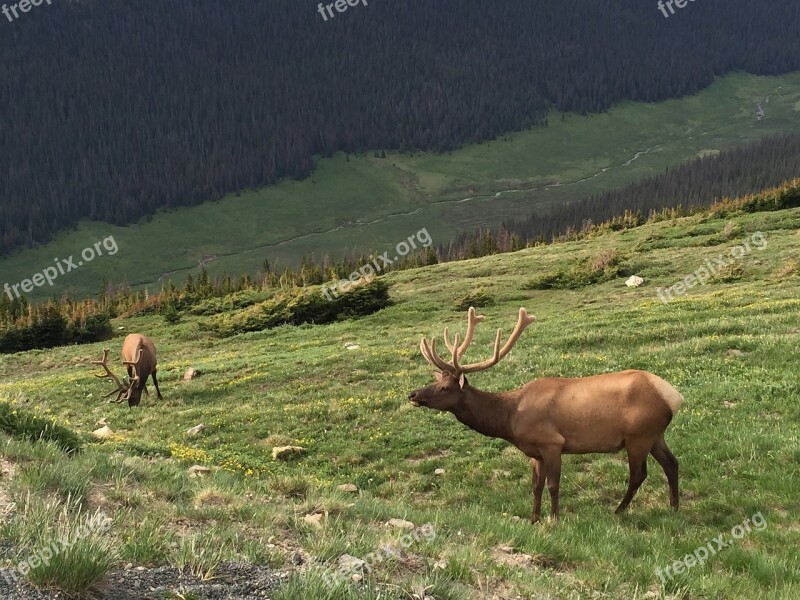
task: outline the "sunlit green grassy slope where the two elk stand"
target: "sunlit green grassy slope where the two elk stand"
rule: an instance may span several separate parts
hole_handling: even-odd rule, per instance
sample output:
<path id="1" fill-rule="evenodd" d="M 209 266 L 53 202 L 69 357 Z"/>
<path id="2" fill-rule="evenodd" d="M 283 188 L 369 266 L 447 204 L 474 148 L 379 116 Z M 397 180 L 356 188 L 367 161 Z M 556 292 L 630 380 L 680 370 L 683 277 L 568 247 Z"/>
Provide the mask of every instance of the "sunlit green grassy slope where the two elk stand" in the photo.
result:
<path id="1" fill-rule="evenodd" d="M 111 342 L 3 356 L 0 397 L 27 398 L 79 434 L 100 418 L 116 432 L 71 457 L 52 443 L 10 440 L 0 449 L 17 474 L 4 485 L 18 502 L 28 493 L 84 494 L 82 510 L 113 516 L 111 545 L 135 564 L 213 577 L 227 560 L 289 569 L 297 553 L 311 561 L 275 598 L 400 599 L 426 587 L 437 599 L 796 598 L 798 230 L 800 209 L 727 220 L 697 215 L 391 273 L 396 304 L 359 320 L 215 339 L 198 328 L 204 317 L 173 326 L 138 317 L 115 322 L 124 331 Z M 740 261 L 735 281 L 694 287 L 666 305 L 658 300 L 656 288 L 757 231 L 767 246 Z M 528 289 L 539 274 L 569 273 L 611 249 L 645 277 L 642 287 L 628 289 L 619 277 Z M 617 517 L 624 454 L 567 456 L 562 520 L 531 526 L 525 458 L 449 414 L 410 405 L 407 393 L 432 381 L 420 337 L 441 335 L 446 325 L 463 331 L 465 314 L 454 306 L 473 290 L 494 300 L 480 311 L 487 320 L 473 357 L 490 351 L 494 328 L 508 330 L 520 306 L 538 318 L 506 359 L 470 379 L 481 389 L 639 368 L 681 391 L 686 402 L 667 431 L 681 464 L 680 512 L 669 510 L 654 461 L 629 512 Z M 134 410 L 100 399 L 105 384 L 89 364 L 130 331 L 156 341 L 165 397 Z M 345 349 L 349 343 L 359 348 Z M 182 381 L 188 367 L 201 377 Z M 199 423 L 205 431 L 187 437 Z M 306 452 L 273 461 L 271 448 L 288 444 Z M 189 478 L 193 464 L 212 473 Z M 435 475 L 437 468 L 445 474 Z M 343 483 L 359 492 L 340 491 Z M 657 568 L 720 534 L 730 537 L 757 512 L 763 531 L 662 587 Z M 313 513 L 324 515 L 322 528 L 304 520 Z M 342 554 L 363 558 L 399 542 L 404 532 L 386 527 L 390 518 L 431 523 L 436 536 L 379 564 L 365 583 L 329 589 L 322 577 Z"/>

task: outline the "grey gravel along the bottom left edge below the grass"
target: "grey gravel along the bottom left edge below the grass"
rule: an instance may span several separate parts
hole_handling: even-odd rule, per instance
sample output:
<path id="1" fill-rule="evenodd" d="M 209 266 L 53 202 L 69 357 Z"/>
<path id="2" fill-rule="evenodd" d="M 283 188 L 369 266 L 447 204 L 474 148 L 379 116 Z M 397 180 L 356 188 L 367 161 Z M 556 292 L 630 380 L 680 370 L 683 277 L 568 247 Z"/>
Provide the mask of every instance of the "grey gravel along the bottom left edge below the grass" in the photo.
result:
<path id="1" fill-rule="evenodd" d="M 180 598 L 174 593 L 192 593 L 202 600 L 260 600 L 268 598 L 288 571 L 259 567 L 249 563 L 221 565 L 213 579 L 203 581 L 182 575 L 173 567 L 128 567 L 113 571 L 104 587 L 94 594 L 97 600 L 163 600 Z M 64 600 L 59 592 L 36 590 L 28 584 L 8 582 L 0 574 L 0 598 L 3 600 Z M 168 592 L 173 592 L 169 594 Z"/>

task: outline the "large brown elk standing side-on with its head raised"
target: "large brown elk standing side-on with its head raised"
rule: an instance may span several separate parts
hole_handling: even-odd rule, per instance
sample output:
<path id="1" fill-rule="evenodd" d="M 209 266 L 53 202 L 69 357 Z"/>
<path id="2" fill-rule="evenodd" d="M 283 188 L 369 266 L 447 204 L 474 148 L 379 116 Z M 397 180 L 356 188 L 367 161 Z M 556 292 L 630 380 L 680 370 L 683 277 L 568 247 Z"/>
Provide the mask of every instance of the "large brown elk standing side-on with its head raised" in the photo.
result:
<path id="1" fill-rule="evenodd" d="M 467 332 L 450 341 L 444 330 L 451 362 L 436 352 L 436 340 L 422 338 L 420 350 L 439 369 L 436 382 L 411 392 L 414 406 L 448 411 L 478 433 L 504 439 L 531 459 L 533 467 L 533 514 L 539 520 L 542 491 L 547 482 L 550 514 L 558 518 L 558 488 L 561 455 L 591 452 L 611 453 L 625 448 L 630 479 L 628 491 L 617 507 L 628 507 L 647 477 L 647 455 L 652 454 L 667 476 L 670 505 L 678 510 L 678 461 L 664 441 L 664 431 L 678 412 L 683 397 L 669 383 L 646 371 L 622 371 L 574 379 L 547 377 L 519 389 L 489 393 L 473 388 L 466 375 L 496 365 L 514 346 L 535 317 L 519 310 L 517 325 L 508 341 L 500 346 L 497 330 L 493 356 L 474 364 L 461 364 L 472 342 L 475 326 L 483 320 L 470 308 Z"/>

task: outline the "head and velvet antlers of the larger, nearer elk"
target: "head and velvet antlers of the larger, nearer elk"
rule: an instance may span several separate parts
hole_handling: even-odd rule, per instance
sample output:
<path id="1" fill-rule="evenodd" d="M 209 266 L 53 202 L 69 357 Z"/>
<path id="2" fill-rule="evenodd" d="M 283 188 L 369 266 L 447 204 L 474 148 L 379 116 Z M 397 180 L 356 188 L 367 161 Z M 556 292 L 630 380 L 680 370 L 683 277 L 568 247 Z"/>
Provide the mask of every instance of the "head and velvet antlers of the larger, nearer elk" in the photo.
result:
<path id="1" fill-rule="evenodd" d="M 414 406 L 424 406 L 426 408 L 433 408 L 436 410 L 453 411 L 464 399 L 465 389 L 467 388 L 468 373 L 476 373 L 484 371 L 496 365 L 503 357 L 511 351 L 511 348 L 525 331 L 525 328 L 536 320 L 536 317 L 528 316 L 524 308 L 519 309 L 519 316 L 517 317 L 517 324 L 514 331 L 511 332 L 503 346 L 500 342 L 503 337 L 502 330 L 497 330 L 497 336 L 494 341 L 494 352 L 491 358 L 484 361 L 461 364 L 461 358 L 472 343 L 472 338 L 475 335 L 475 327 L 483 321 L 483 315 L 476 315 L 475 309 L 470 307 L 467 313 L 467 332 L 464 335 L 464 341 L 461 341 L 459 334 L 456 333 L 453 341 L 450 341 L 450 335 L 447 328 L 444 329 L 444 343 L 450 351 L 452 359 L 450 362 L 445 361 L 436 352 L 436 339 L 431 338 L 430 343 L 423 337 L 420 342 L 420 351 L 422 356 L 425 357 L 434 368 L 438 369 L 434 373 L 436 381 L 424 388 L 414 390 L 408 395 L 408 399 Z"/>

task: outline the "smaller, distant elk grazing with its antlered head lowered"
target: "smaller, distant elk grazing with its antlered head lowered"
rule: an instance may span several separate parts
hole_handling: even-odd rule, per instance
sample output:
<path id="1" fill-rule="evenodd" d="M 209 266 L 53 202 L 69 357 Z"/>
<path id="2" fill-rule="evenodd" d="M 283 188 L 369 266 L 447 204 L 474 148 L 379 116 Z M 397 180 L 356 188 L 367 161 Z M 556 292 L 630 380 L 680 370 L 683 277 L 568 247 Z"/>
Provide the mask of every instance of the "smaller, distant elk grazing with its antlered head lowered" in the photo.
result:
<path id="1" fill-rule="evenodd" d="M 123 384 L 108 368 L 108 353 L 109 349 L 106 348 L 103 350 L 103 360 L 92 361 L 93 365 L 100 365 L 105 369 L 105 373 L 95 375 L 95 377 L 109 379 L 116 385 L 116 389 L 103 396 L 103 398 L 117 394 L 117 399 L 110 402 L 119 403 L 127 400 L 128 406 L 139 406 L 142 390 L 148 397 L 150 396 L 150 392 L 147 391 L 147 378 L 152 375 L 158 399 L 163 399 L 161 390 L 158 389 L 158 379 L 156 378 L 158 365 L 156 346 L 150 338 L 138 333 L 132 333 L 122 342 L 122 364 L 128 369 L 129 381 L 127 384 Z"/>

